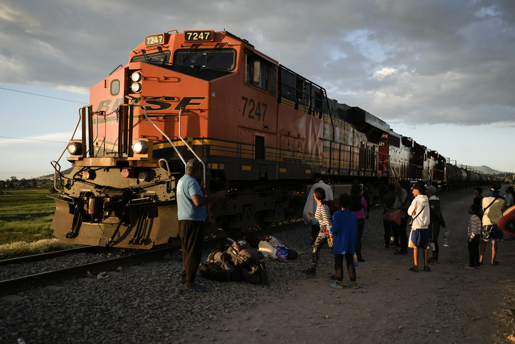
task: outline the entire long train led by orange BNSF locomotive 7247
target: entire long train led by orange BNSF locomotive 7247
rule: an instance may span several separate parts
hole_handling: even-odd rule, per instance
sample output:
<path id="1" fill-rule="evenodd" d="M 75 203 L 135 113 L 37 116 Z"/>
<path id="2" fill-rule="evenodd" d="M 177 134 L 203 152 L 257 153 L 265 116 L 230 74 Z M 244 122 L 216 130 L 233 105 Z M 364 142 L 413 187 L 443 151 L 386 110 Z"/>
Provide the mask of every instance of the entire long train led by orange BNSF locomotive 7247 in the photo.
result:
<path id="1" fill-rule="evenodd" d="M 73 170 L 52 162 L 62 242 L 150 249 L 177 237 L 176 184 L 191 158 L 208 190 L 230 190 L 211 209 L 226 232 L 301 217 L 315 172 L 335 194 L 359 180 L 378 196 L 392 174 L 488 182 L 228 31 L 146 37 L 91 88 L 90 104 L 79 109 L 81 138 L 66 146 Z"/>

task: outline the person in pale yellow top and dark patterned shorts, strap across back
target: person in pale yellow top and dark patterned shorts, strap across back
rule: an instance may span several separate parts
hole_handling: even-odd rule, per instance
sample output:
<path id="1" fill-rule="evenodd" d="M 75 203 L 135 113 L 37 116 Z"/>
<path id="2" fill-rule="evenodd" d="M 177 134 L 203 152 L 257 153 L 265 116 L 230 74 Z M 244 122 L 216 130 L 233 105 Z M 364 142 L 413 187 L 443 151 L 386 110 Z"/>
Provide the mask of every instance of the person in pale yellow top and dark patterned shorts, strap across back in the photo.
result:
<path id="1" fill-rule="evenodd" d="M 490 193 L 483 198 L 483 226 L 481 227 L 481 250 L 479 253 L 479 264 L 483 264 L 483 256 L 485 255 L 486 243 L 492 240 L 492 265 L 499 265 L 499 261 L 495 260 L 497 254 L 497 242 L 503 240 L 503 231 L 497 227 L 497 222 L 501 219 L 501 209 L 504 205 L 504 197 L 499 194 L 501 184 L 493 183 L 490 187 Z"/>

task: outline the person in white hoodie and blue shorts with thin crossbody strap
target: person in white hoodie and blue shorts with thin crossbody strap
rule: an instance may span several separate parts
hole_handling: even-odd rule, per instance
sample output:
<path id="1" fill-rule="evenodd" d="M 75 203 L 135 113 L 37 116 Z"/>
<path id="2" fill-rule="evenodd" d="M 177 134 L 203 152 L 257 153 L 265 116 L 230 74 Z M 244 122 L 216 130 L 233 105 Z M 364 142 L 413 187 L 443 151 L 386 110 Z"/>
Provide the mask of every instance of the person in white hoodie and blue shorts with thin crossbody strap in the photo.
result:
<path id="1" fill-rule="evenodd" d="M 430 272 L 427 266 L 427 249 L 429 248 L 429 221 L 430 208 L 427 196 L 425 195 L 425 187 L 420 183 L 415 183 L 411 187 L 411 192 L 415 196 L 413 202 L 408 208 L 408 215 L 413 218 L 411 223 L 411 233 L 409 234 L 409 247 L 413 249 L 413 259 L 415 265 L 409 268 L 409 271 L 418 272 L 418 252 L 423 250 L 424 255 L 424 271 Z"/>

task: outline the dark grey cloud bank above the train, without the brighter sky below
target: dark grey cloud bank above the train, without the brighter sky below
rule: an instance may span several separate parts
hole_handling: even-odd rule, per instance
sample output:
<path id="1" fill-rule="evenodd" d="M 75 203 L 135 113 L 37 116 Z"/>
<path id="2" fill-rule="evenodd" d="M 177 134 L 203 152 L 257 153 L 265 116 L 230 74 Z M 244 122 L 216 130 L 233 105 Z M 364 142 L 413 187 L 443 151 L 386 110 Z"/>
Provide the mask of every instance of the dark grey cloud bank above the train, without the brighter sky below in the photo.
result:
<path id="1" fill-rule="evenodd" d="M 0 83 L 85 92 L 144 37 L 227 29 L 383 120 L 513 122 L 511 0 L 7 0 Z"/>

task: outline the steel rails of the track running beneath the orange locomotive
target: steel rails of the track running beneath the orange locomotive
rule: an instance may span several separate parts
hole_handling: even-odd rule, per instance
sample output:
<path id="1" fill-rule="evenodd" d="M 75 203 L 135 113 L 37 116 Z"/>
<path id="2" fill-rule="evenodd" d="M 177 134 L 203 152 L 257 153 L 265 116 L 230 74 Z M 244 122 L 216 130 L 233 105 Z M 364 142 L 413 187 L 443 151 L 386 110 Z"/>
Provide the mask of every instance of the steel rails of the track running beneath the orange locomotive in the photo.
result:
<path id="1" fill-rule="evenodd" d="M 270 228 L 259 229 L 259 230 L 250 230 L 248 233 L 252 233 L 255 236 L 260 236 L 265 233 L 271 233 L 273 231 L 279 231 L 283 228 L 286 228 L 291 225 L 295 225 L 300 221 L 288 221 L 282 224 L 274 225 Z M 204 248 L 212 248 L 222 243 L 227 243 L 227 237 L 217 237 L 212 239 L 207 239 L 204 241 Z M 232 239 L 239 240 L 241 239 L 241 234 L 238 236 L 232 237 Z M 32 256 L 25 256 L 19 258 L 11 258 L 0 261 L 0 265 L 8 265 L 8 264 L 20 264 L 20 263 L 28 263 L 32 261 L 44 260 L 47 258 L 52 258 L 56 256 L 61 256 L 69 253 L 77 253 L 77 252 L 85 252 L 88 250 L 95 249 L 96 247 L 82 247 L 79 249 L 72 250 L 63 250 L 56 252 L 49 252 L 43 254 L 37 254 Z M 143 263 L 147 263 L 149 261 L 162 259 L 169 254 L 170 256 L 174 256 L 177 252 L 181 250 L 180 246 L 166 247 L 162 249 L 149 250 L 144 252 L 138 252 L 132 255 L 128 255 L 125 257 L 118 257 L 107 259 L 104 261 L 98 261 L 95 263 L 83 264 L 75 267 L 69 267 L 54 271 L 42 272 L 38 274 L 33 274 L 24 277 L 18 277 L 11 280 L 1 281 L 0 282 L 0 297 L 6 296 L 9 294 L 13 294 L 16 292 L 37 288 L 46 285 L 52 285 L 54 283 L 59 283 L 63 281 L 73 280 L 81 277 L 85 277 L 88 274 L 96 275 L 101 272 L 111 271 L 118 267 L 129 267 L 134 265 L 139 265 Z"/>

